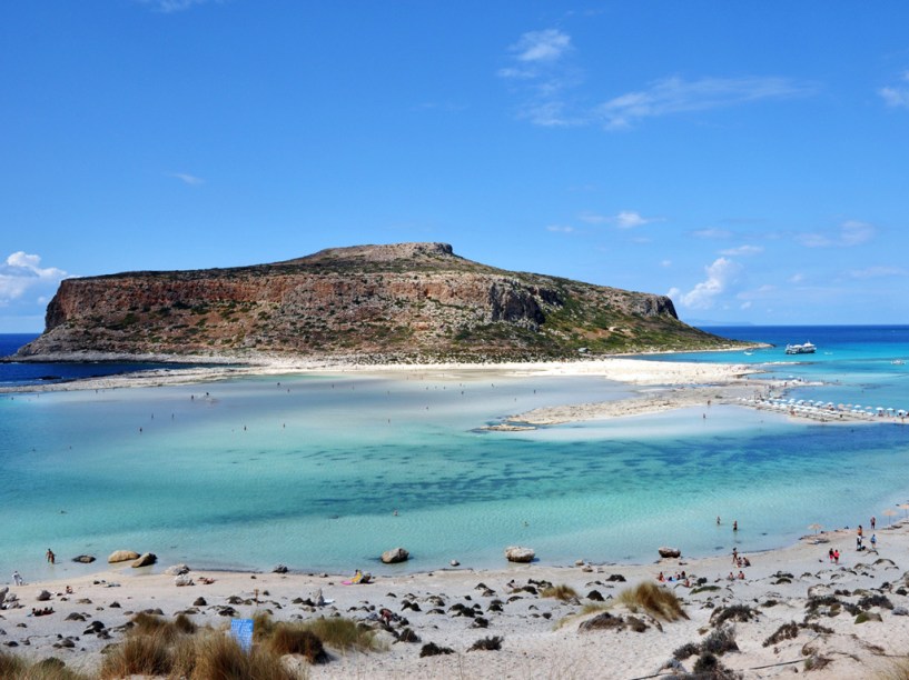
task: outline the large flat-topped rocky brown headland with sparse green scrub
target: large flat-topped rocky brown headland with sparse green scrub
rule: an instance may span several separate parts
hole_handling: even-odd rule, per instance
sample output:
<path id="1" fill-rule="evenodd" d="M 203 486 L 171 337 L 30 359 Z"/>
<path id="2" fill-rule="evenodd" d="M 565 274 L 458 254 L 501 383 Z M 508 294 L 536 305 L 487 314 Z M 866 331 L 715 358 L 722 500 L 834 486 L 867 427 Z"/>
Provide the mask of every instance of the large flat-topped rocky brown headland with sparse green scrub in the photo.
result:
<path id="1" fill-rule="evenodd" d="M 721 340 L 669 298 L 455 256 L 444 243 L 360 246 L 286 262 L 132 272 L 60 284 L 19 357 L 294 353 L 360 360 L 543 359 Z"/>

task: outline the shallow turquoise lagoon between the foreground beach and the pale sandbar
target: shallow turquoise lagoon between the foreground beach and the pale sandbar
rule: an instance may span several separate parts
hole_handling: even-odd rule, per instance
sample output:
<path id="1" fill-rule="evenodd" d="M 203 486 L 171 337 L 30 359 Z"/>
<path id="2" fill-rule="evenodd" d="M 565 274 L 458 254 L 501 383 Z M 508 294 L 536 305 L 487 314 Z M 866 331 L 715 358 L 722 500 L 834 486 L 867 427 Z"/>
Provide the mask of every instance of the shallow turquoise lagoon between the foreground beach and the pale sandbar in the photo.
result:
<path id="1" fill-rule="evenodd" d="M 769 370 L 817 378 L 809 366 Z M 801 390 L 905 396 L 903 367 L 887 366 L 870 381 L 849 373 Z M 714 406 L 707 418 L 480 429 L 628 394 L 590 377 L 439 372 L 3 394 L 0 573 L 66 578 L 98 568 L 71 557 L 105 566 L 121 548 L 162 567 L 330 572 L 502 567 L 510 544 L 547 564 L 646 562 L 662 544 L 709 556 L 779 547 L 813 522 L 886 524 L 882 511 L 909 498 L 909 429 L 898 424 Z M 383 567 L 377 556 L 395 546 L 412 561 Z"/>

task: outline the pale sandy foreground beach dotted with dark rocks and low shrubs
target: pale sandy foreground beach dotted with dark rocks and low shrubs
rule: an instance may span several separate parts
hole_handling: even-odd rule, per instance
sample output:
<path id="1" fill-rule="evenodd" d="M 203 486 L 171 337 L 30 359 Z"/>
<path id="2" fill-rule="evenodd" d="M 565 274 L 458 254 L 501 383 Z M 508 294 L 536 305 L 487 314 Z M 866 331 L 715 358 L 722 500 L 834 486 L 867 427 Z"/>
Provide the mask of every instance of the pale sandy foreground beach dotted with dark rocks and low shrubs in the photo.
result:
<path id="1" fill-rule="evenodd" d="M 744 528 L 741 533 L 747 544 Z M 866 543 L 870 536 L 866 522 Z M 507 566 L 503 558 L 502 569 L 379 576 L 365 586 L 343 584 L 349 574 L 190 571 L 192 584 L 178 587 L 174 576 L 161 573 L 165 566 L 110 566 L 93 574 L 67 578 L 61 573 L 58 580 L 10 587 L 21 608 L 0 611 L 0 639 L 8 652 L 33 660 L 53 656 L 91 674 L 99 667 L 101 650 L 123 639 L 122 627 L 139 611 L 160 610 L 168 619 L 185 612 L 200 626 L 226 629 L 231 618 L 249 618 L 267 609 L 276 620 L 343 616 L 381 630 L 376 612 L 387 608 L 406 619 L 406 623 L 393 622 L 391 631 L 381 630 L 387 651 L 329 649 L 332 661 L 308 668 L 309 677 L 642 678 L 658 673 L 682 646 L 702 642 L 715 628 L 712 616 L 715 620 L 723 608 L 740 604 L 751 613 L 749 620 L 733 623 L 739 650 L 721 657 L 725 667 L 742 671 L 745 678 L 788 677 L 793 669 L 803 671 L 806 663 L 826 664 L 812 671 L 816 677 L 868 677 L 891 657 L 905 654 L 909 634 L 909 522 L 878 523 L 876 538 L 875 551 L 857 551 L 856 532 L 847 529 L 809 534 L 780 550 L 745 550 L 742 554 L 751 566 L 742 568 L 744 579 L 732 581 L 728 574 L 738 574 L 740 569 L 725 553 L 651 564 L 564 568 Z M 833 548 L 841 552 L 839 564 L 828 559 Z M 65 573 L 67 564 L 59 569 Z M 612 616 L 628 620 L 632 612 L 613 602 L 622 590 L 645 581 L 655 583 L 661 571 L 670 576 L 682 570 L 691 587 L 676 581 L 664 587 L 681 599 L 688 619 L 670 622 L 638 611 L 634 616 L 646 626 L 642 632 L 579 628 L 600 613 L 582 613 L 585 606 L 604 604 Z M 214 582 L 205 584 L 202 578 Z M 544 582 L 566 584 L 576 598 L 542 597 Z M 72 594 L 66 594 L 67 586 Z M 43 589 L 51 598 L 38 601 Z M 323 607 L 305 602 L 319 591 L 332 602 Z M 810 598 L 822 596 L 829 597 L 816 600 L 812 611 Z M 29 616 L 33 607 L 51 607 L 53 613 Z M 463 608 L 472 609 L 473 616 L 460 613 Z M 871 620 L 857 622 L 858 613 L 866 610 Z M 102 634 L 89 631 L 92 621 L 103 624 Z M 822 628 L 802 628 L 793 639 L 763 644 L 792 621 Z M 396 641 L 405 627 L 419 637 L 418 643 Z M 493 636 L 503 638 L 500 650 L 468 651 L 477 640 Z M 454 653 L 421 658 L 427 642 L 448 647 Z M 692 657 L 681 663 L 690 671 L 694 661 Z M 604 669 L 609 669 L 605 674 Z"/>

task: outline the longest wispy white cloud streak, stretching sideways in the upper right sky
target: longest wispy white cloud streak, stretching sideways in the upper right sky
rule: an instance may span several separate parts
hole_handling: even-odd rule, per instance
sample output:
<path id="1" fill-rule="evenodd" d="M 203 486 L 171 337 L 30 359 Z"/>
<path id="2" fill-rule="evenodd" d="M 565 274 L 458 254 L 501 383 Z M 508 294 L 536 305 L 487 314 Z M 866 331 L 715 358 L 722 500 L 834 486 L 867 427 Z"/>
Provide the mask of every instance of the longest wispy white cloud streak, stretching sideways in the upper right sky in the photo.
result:
<path id="1" fill-rule="evenodd" d="M 629 128 L 645 118 L 707 111 L 810 91 L 786 78 L 664 78 L 645 90 L 620 94 L 601 104 L 596 116 L 607 129 Z"/>

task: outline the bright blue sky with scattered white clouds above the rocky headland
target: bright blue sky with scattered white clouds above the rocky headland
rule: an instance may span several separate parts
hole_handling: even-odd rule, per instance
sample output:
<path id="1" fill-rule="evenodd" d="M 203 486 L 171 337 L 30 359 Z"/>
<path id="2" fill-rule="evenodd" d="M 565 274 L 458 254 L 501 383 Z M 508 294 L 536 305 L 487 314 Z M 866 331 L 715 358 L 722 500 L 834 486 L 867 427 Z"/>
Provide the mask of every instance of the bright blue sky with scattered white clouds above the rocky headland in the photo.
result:
<path id="1" fill-rule="evenodd" d="M 0 9 L 0 332 L 63 277 L 444 241 L 688 321 L 907 323 L 909 3 Z"/>

